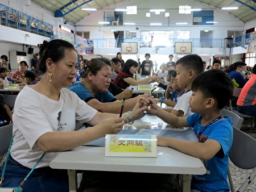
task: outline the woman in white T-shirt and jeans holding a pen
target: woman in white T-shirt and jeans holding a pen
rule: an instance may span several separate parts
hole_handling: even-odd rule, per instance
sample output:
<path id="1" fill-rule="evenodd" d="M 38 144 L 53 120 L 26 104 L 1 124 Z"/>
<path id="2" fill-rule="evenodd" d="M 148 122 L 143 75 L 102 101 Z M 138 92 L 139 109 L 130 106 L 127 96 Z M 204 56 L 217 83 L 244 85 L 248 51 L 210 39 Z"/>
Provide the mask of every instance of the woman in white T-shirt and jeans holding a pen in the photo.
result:
<path id="1" fill-rule="evenodd" d="M 146 108 L 139 102 L 130 115 L 98 112 L 65 89 L 76 74 L 77 55 L 64 40 L 44 41 L 39 45 L 39 70 L 42 80 L 26 86 L 16 98 L 13 114 L 13 146 L 3 187 L 17 187 L 44 152 L 23 191 L 68 191 L 67 170 L 49 168 L 57 152 L 71 150 L 106 134 L 118 133 L 124 123 L 141 117 Z M 76 120 L 93 127 L 75 131 Z"/>

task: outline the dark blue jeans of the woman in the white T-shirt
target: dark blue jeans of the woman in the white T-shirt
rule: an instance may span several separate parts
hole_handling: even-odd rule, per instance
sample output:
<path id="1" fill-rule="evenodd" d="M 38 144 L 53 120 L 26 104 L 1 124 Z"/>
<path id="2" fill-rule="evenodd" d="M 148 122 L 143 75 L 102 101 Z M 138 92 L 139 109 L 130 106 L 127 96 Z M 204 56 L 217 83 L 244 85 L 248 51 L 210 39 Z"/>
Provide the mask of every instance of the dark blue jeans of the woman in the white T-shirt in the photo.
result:
<path id="1" fill-rule="evenodd" d="M 30 170 L 10 156 L 2 187 L 18 187 Z M 24 182 L 22 189 L 24 192 L 69 191 L 67 170 L 52 169 L 49 167 L 35 169 L 27 181 Z"/>

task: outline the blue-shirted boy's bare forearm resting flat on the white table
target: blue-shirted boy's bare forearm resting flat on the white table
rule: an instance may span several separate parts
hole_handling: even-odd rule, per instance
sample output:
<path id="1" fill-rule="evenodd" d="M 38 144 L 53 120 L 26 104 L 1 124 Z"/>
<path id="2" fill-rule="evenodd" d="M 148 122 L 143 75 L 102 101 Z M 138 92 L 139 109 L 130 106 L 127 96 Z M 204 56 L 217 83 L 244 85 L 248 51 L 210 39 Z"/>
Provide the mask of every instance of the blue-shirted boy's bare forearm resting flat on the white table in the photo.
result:
<path id="1" fill-rule="evenodd" d="M 221 149 L 221 144 L 214 139 L 209 139 L 205 141 L 205 143 L 200 143 L 170 137 L 157 137 L 157 145 L 171 147 L 203 160 L 209 160 Z"/>

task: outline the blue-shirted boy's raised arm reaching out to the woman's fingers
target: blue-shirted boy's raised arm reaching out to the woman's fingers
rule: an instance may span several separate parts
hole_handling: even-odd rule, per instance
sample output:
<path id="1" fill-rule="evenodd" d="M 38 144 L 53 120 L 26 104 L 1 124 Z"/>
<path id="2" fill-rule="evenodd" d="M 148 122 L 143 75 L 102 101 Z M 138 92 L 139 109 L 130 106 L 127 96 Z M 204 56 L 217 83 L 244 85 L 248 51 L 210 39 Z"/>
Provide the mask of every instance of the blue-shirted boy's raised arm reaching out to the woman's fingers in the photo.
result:
<path id="1" fill-rule="evenodd" d="M 150 105 L 150 110 L 147 110 L 150 114 L 155 114 L 160 119 L 162 119 L 164 122 L 170 124 L 174 127 L 189 127 L 189 124 L 187 122 L 187 118 L 179 118 L 174 114 L 170 114 L 169 112 L 163 110 L 160 108 L 152 98 L 147 98 L 144 101 L 144 105 L 148 106 Z"/>

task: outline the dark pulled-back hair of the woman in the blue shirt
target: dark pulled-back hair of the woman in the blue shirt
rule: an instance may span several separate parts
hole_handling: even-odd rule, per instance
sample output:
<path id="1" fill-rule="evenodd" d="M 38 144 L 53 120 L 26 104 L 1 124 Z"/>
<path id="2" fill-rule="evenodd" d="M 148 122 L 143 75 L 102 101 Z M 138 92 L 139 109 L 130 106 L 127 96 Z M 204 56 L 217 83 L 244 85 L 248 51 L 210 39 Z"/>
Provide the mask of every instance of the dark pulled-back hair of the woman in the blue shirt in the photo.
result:
<path id="1" fill-rule="evenodd" d="M 104 66 L 110 66 L 111 68 L 111 61 L 106 57 L 98 57 L 91 59 L 90 61 L 88 61 L 87 64 L 84 65 L 85 73 L 82 73 L 82 78 L 87 77 L 88 72 L 92 72 L 92 74 L 96 76 L 98 71 L 104 68 Z"/>

